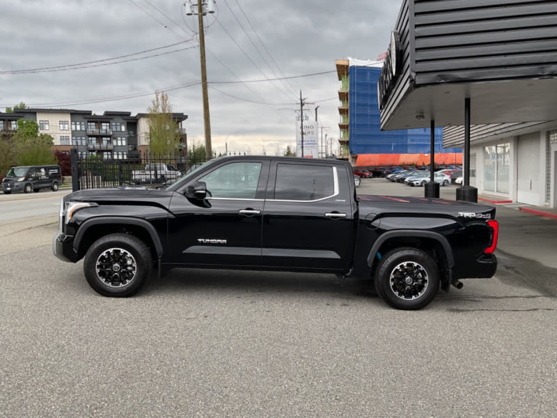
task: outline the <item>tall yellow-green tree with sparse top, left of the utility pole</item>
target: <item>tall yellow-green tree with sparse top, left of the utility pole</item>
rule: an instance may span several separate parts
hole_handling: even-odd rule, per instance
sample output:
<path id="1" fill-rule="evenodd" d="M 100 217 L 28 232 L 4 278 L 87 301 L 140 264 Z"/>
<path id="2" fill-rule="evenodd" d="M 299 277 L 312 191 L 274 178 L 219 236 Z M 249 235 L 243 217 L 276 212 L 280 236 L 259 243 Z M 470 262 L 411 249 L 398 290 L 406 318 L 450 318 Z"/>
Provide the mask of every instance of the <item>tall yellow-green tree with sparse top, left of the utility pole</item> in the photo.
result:
<path id="1" fill-rule="evenodd" d="M 155 92 L 155 98 L 147 111 L 151 154 L 173 155 L 180 146 L 180 133 L 178 123 L 172 118 L 172 105 L 168 101 L 168 95 L 164 91 Z"/>

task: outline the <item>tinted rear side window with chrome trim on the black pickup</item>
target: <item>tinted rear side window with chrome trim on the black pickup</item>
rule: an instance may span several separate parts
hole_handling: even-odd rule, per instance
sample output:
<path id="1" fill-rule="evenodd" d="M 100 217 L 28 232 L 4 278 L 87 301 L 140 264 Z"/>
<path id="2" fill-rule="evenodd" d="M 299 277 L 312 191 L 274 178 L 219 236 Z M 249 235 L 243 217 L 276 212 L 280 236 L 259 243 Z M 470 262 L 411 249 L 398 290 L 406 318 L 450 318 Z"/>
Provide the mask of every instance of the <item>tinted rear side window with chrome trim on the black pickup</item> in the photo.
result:
<path id="1" fill-rule="evenodd" d="M 332 167 L 277 164 L 274 199 L 313 201 L 335 194 Z"/>

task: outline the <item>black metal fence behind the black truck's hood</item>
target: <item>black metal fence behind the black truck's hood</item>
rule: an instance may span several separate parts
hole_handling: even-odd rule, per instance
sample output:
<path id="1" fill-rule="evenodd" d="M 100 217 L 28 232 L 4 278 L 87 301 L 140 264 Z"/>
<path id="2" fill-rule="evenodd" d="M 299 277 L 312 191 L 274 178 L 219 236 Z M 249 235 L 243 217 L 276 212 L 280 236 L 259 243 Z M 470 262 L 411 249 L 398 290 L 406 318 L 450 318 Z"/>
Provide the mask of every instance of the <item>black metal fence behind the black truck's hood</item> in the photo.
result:
<path id="1" fill-rule="evenodd" d="M 102 155 L 80 157 L 71 151 L 72 189 L 100 189 L 106 187 L 160 187 L 173 183 L 182 174 L 205 162 L 204 158 L 139 153 L 126 160 L 106 160 Z"/>

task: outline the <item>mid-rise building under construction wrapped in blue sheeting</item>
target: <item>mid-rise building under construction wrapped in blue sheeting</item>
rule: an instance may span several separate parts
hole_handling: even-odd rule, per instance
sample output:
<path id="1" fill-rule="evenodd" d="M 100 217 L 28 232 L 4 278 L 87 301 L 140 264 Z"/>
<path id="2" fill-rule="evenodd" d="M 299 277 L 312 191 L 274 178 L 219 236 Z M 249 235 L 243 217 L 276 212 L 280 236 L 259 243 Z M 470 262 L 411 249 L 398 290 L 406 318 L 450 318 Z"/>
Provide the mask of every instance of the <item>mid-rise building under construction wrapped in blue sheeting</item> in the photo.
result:
<path id="1" fill-rule="evenodd" d="M 340 147 L 342 157 L 356 162 L 365 154 L 428 154 L 430 129 L 381 130 L 377 105 L 377 82 L 382 61 L 358 59 L 337 60 L 338 80 L 341 82 Z M 460 148 L 443 148 L 443 128 L 435 128 L 435 153 L 461 154 Z"/>

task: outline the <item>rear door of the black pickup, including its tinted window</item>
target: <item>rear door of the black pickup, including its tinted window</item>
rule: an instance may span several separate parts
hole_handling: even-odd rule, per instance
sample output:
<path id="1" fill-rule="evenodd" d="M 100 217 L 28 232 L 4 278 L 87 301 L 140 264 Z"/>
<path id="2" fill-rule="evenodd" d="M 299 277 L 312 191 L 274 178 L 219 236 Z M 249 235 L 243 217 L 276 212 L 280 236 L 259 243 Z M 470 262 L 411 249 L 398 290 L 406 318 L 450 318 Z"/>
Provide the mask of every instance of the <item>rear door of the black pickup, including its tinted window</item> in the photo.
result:
<path id="1" fill-rule="evenodd" d="M 340 164 L 272 163 L 263 212 L 264 266 L 330 272 L 349 268 L 355 209 L 347 181 Z"/>

